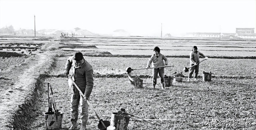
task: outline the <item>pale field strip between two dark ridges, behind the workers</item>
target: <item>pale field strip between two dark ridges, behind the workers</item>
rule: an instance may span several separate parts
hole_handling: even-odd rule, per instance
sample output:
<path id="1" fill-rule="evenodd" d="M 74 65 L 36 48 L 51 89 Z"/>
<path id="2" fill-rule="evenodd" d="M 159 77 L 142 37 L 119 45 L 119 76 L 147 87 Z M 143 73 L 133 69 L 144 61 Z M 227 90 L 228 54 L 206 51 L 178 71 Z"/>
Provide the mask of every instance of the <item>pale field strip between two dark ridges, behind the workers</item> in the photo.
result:
<path id="1" fill-rule="evenodd" d="M 68 57 L 60 57 L 57 60 L 57 70 L 63 72 Z M 148 58 L 125 58 L 125 57 L 90 57 L 85 59 L 93 66 L 94 72 L 99 74 L 124 74 L 125 68 L 146 68 Z M 168 58 L 169 65 L 174 67 L 165 68 L 166 75 L 175 72 L 183 72 L 184 67 L 189 67 L 189 58 Z M 212 72 L 216 76 L 241 76 L 255 77 L 256 64 L 254 59 L 219 59 L 209 58 L 200 64 L 199 75 L 203 72 Z M 188 75 L 188 72 L 183 72 Z M 152 70 L 134 70 L 132 75 L 152 75 Z"/>

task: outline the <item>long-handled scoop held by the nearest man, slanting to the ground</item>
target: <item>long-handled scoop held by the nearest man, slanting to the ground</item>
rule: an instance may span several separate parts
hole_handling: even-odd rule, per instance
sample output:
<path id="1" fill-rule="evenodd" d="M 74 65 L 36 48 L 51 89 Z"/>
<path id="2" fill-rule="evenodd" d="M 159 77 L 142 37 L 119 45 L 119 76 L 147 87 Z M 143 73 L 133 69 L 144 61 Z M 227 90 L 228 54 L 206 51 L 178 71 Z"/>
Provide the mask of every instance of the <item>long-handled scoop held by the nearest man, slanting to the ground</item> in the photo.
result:
<path id="1" fill-rule="evenodd" d="M 82 93 L 82 91 L 79 89 L 79 87 L 76 85 L 75 81 L 70 77 L 70 75 L 68 75 L 68 78 L 70 78 L 70 80 L 74 83 L 74 85 L 78 89 L 80 95 L 82 95 L 84 97 L 84 101 L 86 101 L 88 103 L 88 105 L 91 106 L 90 102 L 86 99 L 85 95 Z M 92 106 L 91 106 L 91 108 L 92 108 Z M 107 120 L 103 121 L 102 119 L 100 119 L 100 116 L 96 113 L 96 111 L 93 108 L 92 108 L 92 110 L 94 111 L 94 113 L 96 114 L 97 118 L 99 119 L 99 122 L 103 125 L 104 128 L 107 128 L 108 126 L 110 126 L 110 122 L 109 121 L 107 121 Z"/>

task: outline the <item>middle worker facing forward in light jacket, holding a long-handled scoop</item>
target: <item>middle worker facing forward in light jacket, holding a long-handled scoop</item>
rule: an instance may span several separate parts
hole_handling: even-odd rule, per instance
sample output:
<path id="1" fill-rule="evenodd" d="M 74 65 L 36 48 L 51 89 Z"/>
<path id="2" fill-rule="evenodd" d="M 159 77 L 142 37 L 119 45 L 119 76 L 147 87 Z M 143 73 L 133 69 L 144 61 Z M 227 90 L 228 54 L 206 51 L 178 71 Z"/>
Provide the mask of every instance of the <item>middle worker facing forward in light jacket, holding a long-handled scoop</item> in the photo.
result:
<path id="1" fill-rule="evenodd" d="M 160 67 L 160 66 L 168 65 L 168 60 L 166 56 L 160 53 L 159 47 L 154 48 L 154 54 L 148 60 L 147 68 L 150 68 L 150 64 L 152 62 L 153 62 L 152 67 Z M 158 74 L 161 79 L 162 89 L 164 89 L 164 67 L 152 69 L 153 87 L 154 89 L 156 88 L 156 79 Z"/>

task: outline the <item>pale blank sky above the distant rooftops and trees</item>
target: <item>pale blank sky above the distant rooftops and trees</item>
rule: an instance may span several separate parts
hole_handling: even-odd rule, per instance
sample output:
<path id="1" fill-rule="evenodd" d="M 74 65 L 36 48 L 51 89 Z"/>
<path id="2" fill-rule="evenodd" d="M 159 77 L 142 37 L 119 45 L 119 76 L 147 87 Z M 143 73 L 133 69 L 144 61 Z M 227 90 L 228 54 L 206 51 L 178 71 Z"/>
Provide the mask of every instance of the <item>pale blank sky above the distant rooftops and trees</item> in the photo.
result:
<path id="1" fill-rule="evenodd" d="M 34 29 L 34 15 L 36 30 L 235 33 L 256 28 L 256 0 L 0 0 L 0 28 Z"/>

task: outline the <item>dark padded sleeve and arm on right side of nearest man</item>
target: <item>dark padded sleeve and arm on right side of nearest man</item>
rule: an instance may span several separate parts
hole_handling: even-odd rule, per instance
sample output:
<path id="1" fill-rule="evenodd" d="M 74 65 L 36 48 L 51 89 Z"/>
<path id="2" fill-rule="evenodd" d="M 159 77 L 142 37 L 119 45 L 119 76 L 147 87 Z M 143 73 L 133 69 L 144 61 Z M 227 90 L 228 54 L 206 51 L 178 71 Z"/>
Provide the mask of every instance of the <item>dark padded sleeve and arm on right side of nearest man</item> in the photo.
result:
<path id="1" fill-rule="evenodd" d="M 85 73 L 85 78 L 86 78 L 86 88 L 85 88 L 85 95 L 86 97 L 89 97 L 92 93 L 92 88 L 93 88 L 93 70 L 90 68 L 89 70 L 86 71 Z"/>

